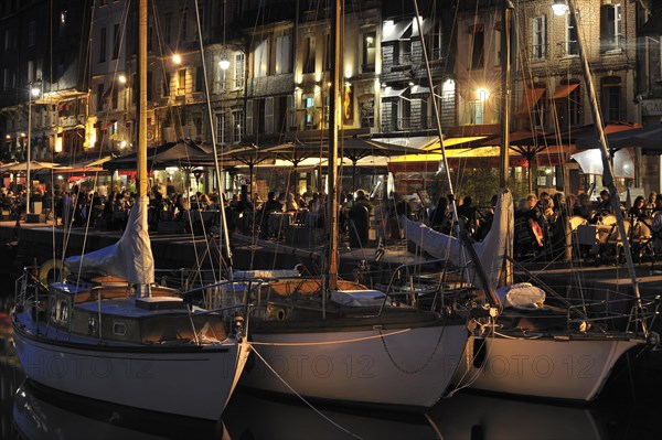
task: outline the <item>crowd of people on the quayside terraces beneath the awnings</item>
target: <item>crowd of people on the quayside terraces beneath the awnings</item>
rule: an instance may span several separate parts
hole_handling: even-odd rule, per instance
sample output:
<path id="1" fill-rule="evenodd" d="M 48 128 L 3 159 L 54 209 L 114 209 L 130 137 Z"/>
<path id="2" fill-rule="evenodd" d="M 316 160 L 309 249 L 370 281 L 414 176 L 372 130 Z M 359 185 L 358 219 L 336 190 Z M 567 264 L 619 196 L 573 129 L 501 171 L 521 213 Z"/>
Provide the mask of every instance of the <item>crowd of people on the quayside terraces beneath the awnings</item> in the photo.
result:
<path id="1" fill-rule="evenodd" d="M 99 192 L 83 191 L 74 186 L 71 191 L 55 194 L 41 191 L 33 194 L 31 200 L 42 203 L 43 212 L 52 212 L 55 223 L 72 226 L 96 226 L 107 229 L 125 227 L 129 211 L 136 201 L 136 194 L 128 191 Z M 469 195 L 458 200 L 457 216 L 462 222 L 468 234 L 476 240 L 483 239 L 492 225 L 496 195 L 487 207 L 476 205 Z M 375 225 L 381 228 L 377 236 L 384 238 L 402 238 L 398 218 L 405 215 L 412 219 L 426 222 L 434 229 L 453 234 L 453 198 L 452 195 L 440 196 L 435 206 L 413 206 L 408 200 L 391 194 L 388 201 L 373 206 L 366 192 L 340 194 L 339 225 L 341 233 L 348 234 L 350 246 L 366 246 L 371 215 L 374 214 Z M 277 194 L 271 191 L 265 201 L 258 195 L 249 200 L 246 191 L 242 195 L 233 195 L 231 200 L 217 192 L 195 193 L 190 198 L 183 194 L 164 191 L 161 185 L 152 187 L 149 203 L 149 226 L 159 229 L 161 222 L 189 222 L 186 213 L 191 211 L 211 211 L 220 213 L 223 208 L 228 229 L 254 235 L 261 238 L 282 237 L 282 230 L 274 230 L 269 224 L 273 213 L 290 213 L 292 223 L 306 224 L 309 227 L 323 228 L 325 225 L 328 196 L 323 192 Z M 11 212 L 18 218 L 25 213 L 25 192 L 0 189 L 0 206 L 4 212 Z M 53 208 L 51 208 L 53 206 Z M 515 207 L 515 257 L 527 254 L 547 253 L 553 257 L 563 255 L 567 247 L 568 219 L 578 216 L 588 224 L 600 224 L 602 219 L 613 214 L 613 206 L 607 190 L 600 192 L 597 201 L 591 201 L 586 193 L 575 196 L 563 193 L 553 195 L 542 192 L 540 196 L 528 194 L 520 200 Z M 632 223 L 645 222 L 651 230 L 662 229 L 662 196 L 651 193 L 648 198 L 638 196 L 623 216 Z M 213 221 L 206 226 L 220 226 L 220 216 L 212 215 Z M 281 226 L 281 225 L 280 225 Z"/>

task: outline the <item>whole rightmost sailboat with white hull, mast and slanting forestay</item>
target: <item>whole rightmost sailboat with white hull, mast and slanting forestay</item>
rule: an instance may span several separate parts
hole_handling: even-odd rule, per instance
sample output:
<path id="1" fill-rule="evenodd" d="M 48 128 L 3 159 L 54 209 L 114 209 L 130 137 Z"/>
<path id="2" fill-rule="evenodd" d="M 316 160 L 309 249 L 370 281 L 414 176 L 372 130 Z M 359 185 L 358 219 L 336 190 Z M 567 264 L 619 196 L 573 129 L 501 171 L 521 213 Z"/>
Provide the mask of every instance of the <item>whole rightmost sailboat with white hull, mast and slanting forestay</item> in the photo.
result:
<path id="1" fill-rule="evenodd" d="M 573 1 L 569 3 L 570 13 L 574 13 Z M 504 4 L 502 15 L 504 23 L 510 22 L 510 12 Z M 581 36 L 581 32 L 578 34 Z M 581 47 L 580 40 L 578 43 Z M 502 54 L 505 67 L 502 87 L 505 90 L 510 87 L 510 39 L 508 37 L 502 39 Z M 588 63 L 581 50 L 580 54 L 585 81 L 591 93 L 595 126 L 600 129 L 604 158 L 608 158 Z M 502 95 L 504 96 L 502 108 L 508 115 L 510 95 L 508 93 Z M 506 280 L 506 286 L 500 289 L 500 294 L 495 297 L 499 309 L 490 316 L 476 319 L 476 330 L 467 345 L 455 382 L 458 388 L 471 387 L 528 397 L 590 401 L 598 396 L 623 353 L 634 347 L 643 348 L 649 342 L 654 343 L 659 340 L 647 326 L 647 318 L 655 313 L 656 305 L 642 303 L 627 246 L 627 235 L 622 228 L 621 237 L 624 237 L 624 251 L 634 290 L 632 310 L 620 315 L 628 321 L 626 330 L 612 329 L 611 320 L 616 318 L 615 315 L 607 315 L 607 313 L 600 316 L 591 315 L 588 312 L 591 304 L 572 304 L 560 296 L 555 296 L 553 291 L 530 283 L 509 286 L 512 282 L 512 259 L 508 257 L 512 255 L 514 232 L 512 196 L 505 178 L 509 118 L 502 120 L 504 126 L 501 154 L 502 194 L 492 225 L 492 229 L 498 230 L 491 230 L 482 243 L 474 245 L 478 258 L 473 258 L 471 262 L 474 267 L 482 267 L 489 273 L 489 286 L 483 286 L 488 290 L 493 290 L 502 279 Z M 608 159 L 604 162 L 609 164 Z M 609 184 L 615 212 L 620 215 L 611 168 L 606 165 L 605 170 L 605 181 Z M 439 234 L 407 219 L 403 222 L 407 238 L 433 256 L 446 258 L 455 254 L 459 247 L 456 237 Z M 619 222 L 622 226 L 622 216 Z M 650 307 L 648 312 L 647 307 Z M 601 304 L 600 310 L 609 310 L 609 305 Z"/>

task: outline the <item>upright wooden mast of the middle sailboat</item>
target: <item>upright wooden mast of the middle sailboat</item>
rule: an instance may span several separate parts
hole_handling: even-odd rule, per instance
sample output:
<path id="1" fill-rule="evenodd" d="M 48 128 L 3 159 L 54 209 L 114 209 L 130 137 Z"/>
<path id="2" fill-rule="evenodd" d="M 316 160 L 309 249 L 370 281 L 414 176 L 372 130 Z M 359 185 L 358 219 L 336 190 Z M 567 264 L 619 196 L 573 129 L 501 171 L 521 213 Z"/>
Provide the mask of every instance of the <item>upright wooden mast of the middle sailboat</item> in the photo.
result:
<path id="1" fill-rule="evenodd" d="M 325 260 L 325 270 L 322 277 L 327 277 L 327 291 L 338 289 L 338 197 L 337 197 L 337 176 L 338 176 L 338 125 L 340 122 L 340 75 L 342 72 L 340 65 L 340 44 L 342 26 L 342 1 L 334 0 L 332 18 L 332 66 L 331 66 L 331 99 L 329 103 L 329 202 L 328 213 L 328 233 L 329 233 L 329 253 Z M 323 292 L 324 294 L 327 292 Z"/>

